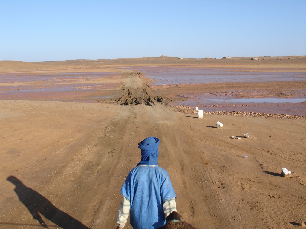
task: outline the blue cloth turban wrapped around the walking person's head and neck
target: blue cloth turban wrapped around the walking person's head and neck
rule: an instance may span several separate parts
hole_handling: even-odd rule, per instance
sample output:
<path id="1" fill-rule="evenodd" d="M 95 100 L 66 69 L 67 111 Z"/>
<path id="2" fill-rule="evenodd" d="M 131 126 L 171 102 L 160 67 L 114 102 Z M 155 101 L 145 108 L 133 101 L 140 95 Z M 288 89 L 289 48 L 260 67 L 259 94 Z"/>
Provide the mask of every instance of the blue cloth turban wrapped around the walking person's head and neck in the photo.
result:
<path id="1" fill-rule="evenodd" d="M 137 165 L 158 165 L 157 158 L 159 139 L 156 137 L 148 137 L 138 144 L 141 150 L 141 160 Z"/>

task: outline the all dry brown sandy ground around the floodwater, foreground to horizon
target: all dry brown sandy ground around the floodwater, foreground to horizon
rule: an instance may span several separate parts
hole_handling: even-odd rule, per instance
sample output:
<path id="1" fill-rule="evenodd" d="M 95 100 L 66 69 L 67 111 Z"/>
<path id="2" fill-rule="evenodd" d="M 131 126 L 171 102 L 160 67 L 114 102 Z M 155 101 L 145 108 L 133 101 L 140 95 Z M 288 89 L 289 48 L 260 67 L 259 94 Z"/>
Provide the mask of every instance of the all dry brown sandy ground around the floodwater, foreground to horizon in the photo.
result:
<path id="1" fill-rule="evenodd" d="M 143 75 L 115 67 L 186 64 L 305 71 L 305 56 L 259 57 L 265 60 L 255 62 L 238 57 L 184 58 L 184 63 L 175 57 L 161 58 L 0 61 L 0 75 L 119 73 L 107 79 L 112 89 L 99 91 L 103 96 L 117 95 L 115 99 L 67 102 L 97 96 L 95 91 L 57 95 L 65 102 L 47 101 L 54 99 L 52 93 L 0 100 L 1 228 L 115 228 L 119 190 L 140 160 L 138 142 L 148 136 L 160 139 L 159 165 L 169 172 L 177 211 L 196 228 L 300 228 L 306 221 L 303 117 L 207 114 L 198 119 L 187 107 L 184 113 L 165 104 L 175 89 L 186 90 L 183 86 L 157 89 Z M 45 83 L 26 84 L 39 88 Z M 300 91 L 303 85 L 304 81 L 290 82 L 280 89 Z M 273 85 L 266 89 L 268 94 L 279 90 Z M 223 129 L 215 127 L 217 121 Z M 245 133 L 251 137 L 230 138 Z M 281 176 L 282 167 L 292 175 Z M 127 223 L 125 228 L 132 227 Z"/>

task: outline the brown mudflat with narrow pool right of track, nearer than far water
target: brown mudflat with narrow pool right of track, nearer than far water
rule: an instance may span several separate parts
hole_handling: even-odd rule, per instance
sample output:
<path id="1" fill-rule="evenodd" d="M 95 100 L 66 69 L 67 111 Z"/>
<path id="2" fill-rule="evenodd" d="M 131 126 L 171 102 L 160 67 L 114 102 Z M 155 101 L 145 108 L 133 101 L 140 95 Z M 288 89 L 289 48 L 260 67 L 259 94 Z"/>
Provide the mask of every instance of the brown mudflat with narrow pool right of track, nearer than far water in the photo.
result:
<path id="1" fill-rule="evenodd" d="M 249 111 L 306 115 L 306 81 L 230 82 L 155 86 L 171 105 L 199 107 L 203 111 Z M 235 102 L 235 99 L 301 99 L 298 103 Z M 305 100 L 304 100 L 305 99 Z"/>

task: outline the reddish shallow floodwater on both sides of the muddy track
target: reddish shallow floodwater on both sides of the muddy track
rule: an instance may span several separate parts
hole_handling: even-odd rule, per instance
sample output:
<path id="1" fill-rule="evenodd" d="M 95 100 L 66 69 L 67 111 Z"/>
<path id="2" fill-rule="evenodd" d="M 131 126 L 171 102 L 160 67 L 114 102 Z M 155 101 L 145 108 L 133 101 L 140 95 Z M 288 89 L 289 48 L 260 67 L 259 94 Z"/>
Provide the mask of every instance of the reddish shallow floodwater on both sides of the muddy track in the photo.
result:
<path id="1" fill-rule="evenodd" d="M 155 85 L 194 84 L 221 82 L 273 82 L 306 80 L 306 72 L 265 72 L 245 71 L 246 69 L 228 68 L 189 68 L 189 67 L 134 67 L 149 78 L 155 79 Z M 275 70 L 275 69 L 274 69 Z M 94 81 L 120 77 L 121 73 L 61 73 L 40 75 L 0 75 L 0 83 L 28 83 L 33 85 L 1 86 L 0 99 L 9 100 L 69 100 L 91 102 L 96 98 L 107 98 L 101 93 L 117 85 L 107 83 L 77 84 L 76 81 Z M 67 82 L 69 84 L 58 84 Z M 306 89 L 304 92 L 305 93 Z M 305 99 L 301 97 L 300 99 Z M 204 111 L 252 111 L 259 113 L 279 113 L 306 115 L 306 103 L 293 101 L 237 101 L 220 96 L 194 95 L 187 101 L 175 103 L 199 107 Z"/>

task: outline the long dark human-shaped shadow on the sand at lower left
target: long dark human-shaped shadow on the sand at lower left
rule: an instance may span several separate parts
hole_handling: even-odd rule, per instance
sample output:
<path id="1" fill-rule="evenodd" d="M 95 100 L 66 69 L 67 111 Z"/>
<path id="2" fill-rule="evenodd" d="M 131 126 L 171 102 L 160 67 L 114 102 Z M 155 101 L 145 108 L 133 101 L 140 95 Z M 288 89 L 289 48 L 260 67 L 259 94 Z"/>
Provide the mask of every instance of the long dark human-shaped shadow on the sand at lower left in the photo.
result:
<path id="1" fill-rule="evenodd" d="M 32 188 L 25 186 L 15 176 L 9 176 L 6 180 L 16 186 L 14 191 L 19 200 L 28 208 L 33 218 L 43 227 L 49 228 L 40 215 L 43 215 L 63 229 L 90 229 L 80 221 L 56 208 L 47 198 L 34 191 Z"/>

